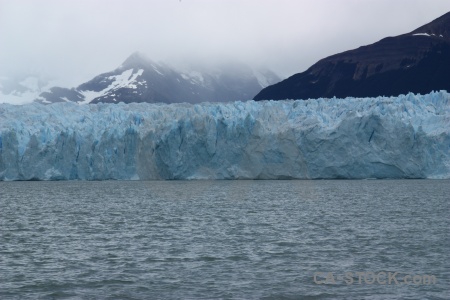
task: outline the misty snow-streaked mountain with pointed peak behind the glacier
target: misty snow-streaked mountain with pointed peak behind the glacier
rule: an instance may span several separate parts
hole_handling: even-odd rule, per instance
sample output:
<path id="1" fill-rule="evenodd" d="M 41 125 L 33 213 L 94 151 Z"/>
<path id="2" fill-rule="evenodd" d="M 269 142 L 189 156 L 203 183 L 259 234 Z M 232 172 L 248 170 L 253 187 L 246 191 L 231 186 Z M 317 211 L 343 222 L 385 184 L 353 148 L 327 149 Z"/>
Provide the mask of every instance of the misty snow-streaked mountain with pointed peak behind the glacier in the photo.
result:
<path id="1" fill-rule="evenodd" d="M 68 89 L 53 87 L 40 94 L 41 103 L 220 102 L 248 100 L 280 78 L 269 70 L 227 62 L 175 68 L 136 52 L 112 72 Z"/>

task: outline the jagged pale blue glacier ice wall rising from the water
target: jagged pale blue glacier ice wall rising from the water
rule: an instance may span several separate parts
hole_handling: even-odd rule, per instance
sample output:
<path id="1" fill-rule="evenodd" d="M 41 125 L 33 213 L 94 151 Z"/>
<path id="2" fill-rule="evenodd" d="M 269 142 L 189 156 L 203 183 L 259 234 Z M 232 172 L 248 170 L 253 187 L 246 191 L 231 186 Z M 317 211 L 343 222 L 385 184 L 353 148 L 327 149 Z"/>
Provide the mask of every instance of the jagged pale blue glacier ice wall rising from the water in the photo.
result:
<path id="1" fill-rule="evenodd" d="M 0 105 L 0 180 L 450 178 L 450 94 Z"/>

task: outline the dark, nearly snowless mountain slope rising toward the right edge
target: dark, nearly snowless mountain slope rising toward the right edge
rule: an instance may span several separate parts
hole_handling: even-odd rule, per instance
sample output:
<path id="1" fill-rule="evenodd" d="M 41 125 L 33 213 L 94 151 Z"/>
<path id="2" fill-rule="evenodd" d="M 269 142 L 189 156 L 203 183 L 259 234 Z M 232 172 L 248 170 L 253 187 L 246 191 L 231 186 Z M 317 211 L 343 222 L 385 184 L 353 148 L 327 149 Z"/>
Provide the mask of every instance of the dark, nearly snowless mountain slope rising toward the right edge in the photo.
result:
<path id="1" fill-rule="evenodd" d="M 450 90 L 450 12 L 416 30 L 324 58 L 255 100 L 396 96 Z"/>

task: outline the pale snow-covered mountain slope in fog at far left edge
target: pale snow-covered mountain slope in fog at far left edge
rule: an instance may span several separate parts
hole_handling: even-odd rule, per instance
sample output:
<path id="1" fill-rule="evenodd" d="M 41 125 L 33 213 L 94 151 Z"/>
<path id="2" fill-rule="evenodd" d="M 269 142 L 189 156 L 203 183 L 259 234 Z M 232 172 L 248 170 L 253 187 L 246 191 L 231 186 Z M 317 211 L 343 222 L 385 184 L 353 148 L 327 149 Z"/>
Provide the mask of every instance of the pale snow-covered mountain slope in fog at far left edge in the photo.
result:
<path id="1" fill-rule="evenodd" d="M 25 104 L 49 90 L 51 82 L 34 74 L 0 78 L 0 103 Z"/>

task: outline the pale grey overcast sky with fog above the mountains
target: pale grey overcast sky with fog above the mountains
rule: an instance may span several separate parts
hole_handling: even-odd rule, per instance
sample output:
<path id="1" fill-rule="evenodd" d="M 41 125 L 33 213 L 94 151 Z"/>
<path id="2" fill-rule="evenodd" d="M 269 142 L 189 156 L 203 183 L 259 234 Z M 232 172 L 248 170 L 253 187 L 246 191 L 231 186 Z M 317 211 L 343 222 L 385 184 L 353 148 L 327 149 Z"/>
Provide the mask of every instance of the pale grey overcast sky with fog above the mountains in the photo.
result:
<path id="1" fill-rule="evenodd" d="M 449 0 L 0 0 L 0 75 L 71 87 L 140 51 L 236 58 L 287 77 L 448 11 Z"/>

